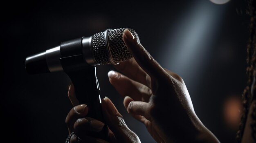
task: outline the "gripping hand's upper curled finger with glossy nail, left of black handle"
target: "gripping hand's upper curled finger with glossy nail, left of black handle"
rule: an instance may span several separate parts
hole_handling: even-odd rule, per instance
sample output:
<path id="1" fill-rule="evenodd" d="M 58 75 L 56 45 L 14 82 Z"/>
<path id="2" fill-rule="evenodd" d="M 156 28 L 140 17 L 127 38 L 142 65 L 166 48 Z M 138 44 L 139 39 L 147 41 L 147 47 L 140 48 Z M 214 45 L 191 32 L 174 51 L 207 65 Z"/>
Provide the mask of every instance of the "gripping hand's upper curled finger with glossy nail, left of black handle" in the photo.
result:
<path id="1" fill-rule="evenodd" d="M 66 117 L 66 124 L 69 132 L 74 132 L 74 123 L 77 119 L 85 117 L 88 114 L 88 107 L 85 104 L 75 106 L 70 110 Z"/>

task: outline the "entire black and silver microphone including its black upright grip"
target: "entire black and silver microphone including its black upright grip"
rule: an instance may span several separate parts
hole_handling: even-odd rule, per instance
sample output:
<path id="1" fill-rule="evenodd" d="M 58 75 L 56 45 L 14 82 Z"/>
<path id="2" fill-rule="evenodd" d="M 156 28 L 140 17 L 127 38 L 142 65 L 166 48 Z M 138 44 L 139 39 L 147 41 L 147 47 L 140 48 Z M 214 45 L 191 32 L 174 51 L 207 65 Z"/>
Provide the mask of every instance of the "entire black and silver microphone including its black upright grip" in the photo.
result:
<path id="1" fill-rule="evenodd" d="M 124 30 L 125 28 L 107 29 L 90 37 L 62 42 L 59 46 L 27 57 L 26 71 L 29 74 L 64 71 L 74 84 L 79 104 L 88 106 L 87 116 L 104 123 L 96 66 L 116 65 L 132 58 L 123 40 Z M 139 40 L 134 30 L 128 30 Z M 90 132 L 89 134 L 108 141 L 106 124 L 102 132 Z"/>

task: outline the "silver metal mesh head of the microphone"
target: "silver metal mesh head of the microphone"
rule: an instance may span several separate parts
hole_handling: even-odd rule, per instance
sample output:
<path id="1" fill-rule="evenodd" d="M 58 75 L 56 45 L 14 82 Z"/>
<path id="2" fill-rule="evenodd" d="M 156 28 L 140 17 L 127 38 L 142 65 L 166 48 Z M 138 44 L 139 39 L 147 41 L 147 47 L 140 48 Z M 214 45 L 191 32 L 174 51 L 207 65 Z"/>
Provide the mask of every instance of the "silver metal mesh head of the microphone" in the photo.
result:
<path id="1" fill-rule="evenodd" d="M 92 51 L 97 64 L 118 64 L 132 58 L 123 40 L 125 29 L 107 29 L 92 36 Z M 139 41 L 137 33 L 128 30 Z"/>

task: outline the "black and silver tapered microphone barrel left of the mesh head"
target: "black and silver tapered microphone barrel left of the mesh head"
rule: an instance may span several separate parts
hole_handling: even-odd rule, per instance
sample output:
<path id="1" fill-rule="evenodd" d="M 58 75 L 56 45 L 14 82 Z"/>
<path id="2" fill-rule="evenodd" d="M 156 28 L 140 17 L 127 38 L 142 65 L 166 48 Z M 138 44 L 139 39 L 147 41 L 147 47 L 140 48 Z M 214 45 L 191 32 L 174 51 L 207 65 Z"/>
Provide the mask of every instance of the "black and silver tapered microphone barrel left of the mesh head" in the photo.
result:
<path id="1" fill-rule="evenodd" d="M 78 70 L 81 66 L 95 66 L 91 37 L 80 37 L 62 42 L 59 46 L 26 58 L 29 74 Z"/>

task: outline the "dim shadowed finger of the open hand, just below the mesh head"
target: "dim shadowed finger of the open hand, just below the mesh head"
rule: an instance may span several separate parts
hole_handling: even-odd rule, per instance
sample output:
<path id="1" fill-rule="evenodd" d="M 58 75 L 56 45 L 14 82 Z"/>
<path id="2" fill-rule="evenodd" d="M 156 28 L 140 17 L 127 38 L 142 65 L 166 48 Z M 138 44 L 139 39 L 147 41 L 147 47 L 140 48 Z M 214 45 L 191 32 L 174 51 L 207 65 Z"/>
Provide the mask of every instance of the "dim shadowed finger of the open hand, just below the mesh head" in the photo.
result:
<path id="1" fill-rule="evenodd" d="M 120 62 L 114 67 L 130 79 L 144 84 L 145 86 L 148 86 L 150 88 L 151 79 L 149 75 L 141 69 L 141 67 L 138 65 L 134 58 L 124 62 Z"/>

